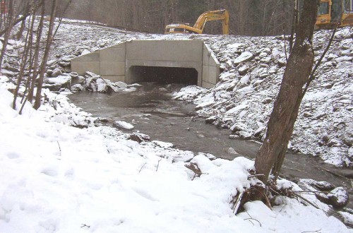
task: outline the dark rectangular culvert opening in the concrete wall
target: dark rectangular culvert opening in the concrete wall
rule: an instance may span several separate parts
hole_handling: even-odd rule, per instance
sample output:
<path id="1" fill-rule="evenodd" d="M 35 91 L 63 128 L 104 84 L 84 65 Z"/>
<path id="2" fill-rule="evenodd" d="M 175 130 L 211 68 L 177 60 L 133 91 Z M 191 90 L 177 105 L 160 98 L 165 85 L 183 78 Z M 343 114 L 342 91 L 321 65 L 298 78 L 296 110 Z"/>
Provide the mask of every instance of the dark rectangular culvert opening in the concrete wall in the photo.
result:
<path id="1" fill-rule="evenodd" d="M 163 84 L 186 83 L 198 84 L 198 71 L 195 68 L 164 66 L 131 66 L 131 80 L 137 82 L 157 82 Z"/>

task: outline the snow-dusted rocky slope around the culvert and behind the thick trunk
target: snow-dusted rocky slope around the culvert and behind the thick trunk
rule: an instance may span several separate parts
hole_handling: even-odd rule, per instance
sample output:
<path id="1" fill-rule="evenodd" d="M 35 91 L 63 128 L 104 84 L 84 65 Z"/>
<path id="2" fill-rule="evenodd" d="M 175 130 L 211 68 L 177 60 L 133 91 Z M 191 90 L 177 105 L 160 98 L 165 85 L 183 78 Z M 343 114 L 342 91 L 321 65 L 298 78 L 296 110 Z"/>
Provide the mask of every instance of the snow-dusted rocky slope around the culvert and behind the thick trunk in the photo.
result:
<path id="1" fill-rule="evenodd" d="M 289 143 L 289 148 L 294 151 L 319 156 L 325 162 L 346 167 L 353 165 L 352 34 L 349 28 L 336 32 L 335 41 L 301 104 Z M 126 40 L 204 40 L 221 63 L 220 82 L 210 90 L 185 88 L 175 97 L 199 104 L 199 115 L 217 119 L 213 124 L 232 129 L 229 134 L 244 139 L 261 140 L 265 136 L 286 64 L 282 36 L 151 35 L 64 24 L 58 37 L 53 49 L 57 61 L 55 57 L 53 61 L 64 67 L 68 67 L 71 57 Z M 315 33 L 316 61 L 329 38 L 330 30 Z M 57 64 L 52 66 L 55 68 Z"/>

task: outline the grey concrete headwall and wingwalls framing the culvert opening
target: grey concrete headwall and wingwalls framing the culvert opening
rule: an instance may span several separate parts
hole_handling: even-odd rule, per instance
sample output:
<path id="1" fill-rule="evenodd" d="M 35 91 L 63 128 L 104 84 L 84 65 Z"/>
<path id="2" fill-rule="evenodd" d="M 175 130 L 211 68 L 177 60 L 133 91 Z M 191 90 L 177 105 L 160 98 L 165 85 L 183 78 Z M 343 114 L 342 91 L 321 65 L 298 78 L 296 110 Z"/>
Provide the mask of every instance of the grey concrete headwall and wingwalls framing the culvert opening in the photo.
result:
<path id="1" fill-rule="evenodd" d="M 71 70 L 80 75 L 91 71 L 128 84 L 141 80 L 134 66 L 195 68 L 203 88 L 213 87 L 220 75 L 220 64 L 201 40 L 132 40 L 71 59 Z"/>

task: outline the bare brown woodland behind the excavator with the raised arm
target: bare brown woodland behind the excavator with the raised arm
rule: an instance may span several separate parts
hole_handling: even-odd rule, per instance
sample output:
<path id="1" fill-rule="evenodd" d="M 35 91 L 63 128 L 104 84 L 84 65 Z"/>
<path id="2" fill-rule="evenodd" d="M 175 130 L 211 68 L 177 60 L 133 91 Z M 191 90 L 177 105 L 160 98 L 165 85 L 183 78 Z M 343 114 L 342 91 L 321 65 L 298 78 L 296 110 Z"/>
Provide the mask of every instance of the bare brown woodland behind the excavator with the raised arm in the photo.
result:
<path id="1" fill-rule="evenodd" d="M 66 2 L 68 0 L 65 0 Z M 293 0 L 71 0 L 67 18 L 91 20 L 127 30 L 163 33 L 170 23 L 193 23 L 205 11 L 227 9 L 229 34 L 268 36 L 290 32 Z M 61 3 L 64 8 L 65 2 Z M 221 34 L 219 21 L 207 34 Z"/>

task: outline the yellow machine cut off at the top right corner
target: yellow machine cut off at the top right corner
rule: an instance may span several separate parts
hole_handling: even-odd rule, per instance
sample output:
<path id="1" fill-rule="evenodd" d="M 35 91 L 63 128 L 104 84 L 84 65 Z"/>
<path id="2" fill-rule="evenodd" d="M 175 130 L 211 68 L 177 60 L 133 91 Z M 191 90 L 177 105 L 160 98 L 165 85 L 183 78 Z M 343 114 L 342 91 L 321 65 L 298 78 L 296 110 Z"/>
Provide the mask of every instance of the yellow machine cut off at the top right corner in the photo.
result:
<path id="1" fill-rule="evenodd" d="M 353 0 L 320 0 L 316 28 L 353 26 Z"/>

